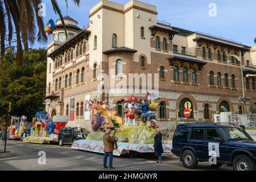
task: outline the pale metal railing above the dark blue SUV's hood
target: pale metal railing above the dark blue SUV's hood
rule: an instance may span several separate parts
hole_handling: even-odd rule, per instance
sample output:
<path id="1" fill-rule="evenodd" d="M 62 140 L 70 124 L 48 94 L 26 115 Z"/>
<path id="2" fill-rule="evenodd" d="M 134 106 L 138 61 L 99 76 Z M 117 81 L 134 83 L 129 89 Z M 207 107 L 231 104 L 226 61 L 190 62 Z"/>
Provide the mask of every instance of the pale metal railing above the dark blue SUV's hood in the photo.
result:
<path id="1" fill-rule="evenodd" d="M 229 122 L 237 126 L 256 128 L 256 114 L 233 114 L 229 115 Z"/>

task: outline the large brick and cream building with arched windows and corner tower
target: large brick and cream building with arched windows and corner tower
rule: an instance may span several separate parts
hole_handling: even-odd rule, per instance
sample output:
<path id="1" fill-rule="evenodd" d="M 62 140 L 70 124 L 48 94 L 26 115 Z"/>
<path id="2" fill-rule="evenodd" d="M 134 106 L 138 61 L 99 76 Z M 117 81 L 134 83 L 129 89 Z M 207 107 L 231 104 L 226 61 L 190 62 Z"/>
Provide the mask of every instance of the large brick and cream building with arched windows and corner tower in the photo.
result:
<path id="1" fill-rule="evenodd" d="M 144 101 L 146 92 L 159 95 L 158 121 L 166 129 L 184 118 L 213 121 L 222 111 L 242 113 L 242 77 L 247 113 L 256 113 L 256 48 L 172 27 L 157 20 L 156 6 L 132 0 L 119 5 L 102 0 L 89 13 L 89 26 L 81 29 L 65 16 L 68 39 L 57 20 L 48 46 L 46 111 L 69 115 L 69 126 L 90 130 L 85 97 L 108 101 L 123 115 L 123 101 L 134 94 Z M 239 57 L 241 57 L 242 72 Z M 72 111 L 72 112 L 71 112 Z M 72 114 L 72 115 L 71 115 Z"/>

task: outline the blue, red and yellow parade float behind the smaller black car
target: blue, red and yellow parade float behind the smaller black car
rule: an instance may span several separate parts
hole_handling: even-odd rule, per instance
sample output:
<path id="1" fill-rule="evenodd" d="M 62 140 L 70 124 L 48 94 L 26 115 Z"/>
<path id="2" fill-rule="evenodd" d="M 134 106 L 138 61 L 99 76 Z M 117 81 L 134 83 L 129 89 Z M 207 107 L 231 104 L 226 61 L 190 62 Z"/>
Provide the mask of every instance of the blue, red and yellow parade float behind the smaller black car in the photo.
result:
<path id="1" fill-rule="evenodd" d="M 24 138 L 23 142 L 38 144 L 58 142 L 59 131 L 67 125 L 68 121 L 67 116 L 56 115 L 51 119 L 46 112 L 38 112 L 32 121 L 30 137 Z"/>

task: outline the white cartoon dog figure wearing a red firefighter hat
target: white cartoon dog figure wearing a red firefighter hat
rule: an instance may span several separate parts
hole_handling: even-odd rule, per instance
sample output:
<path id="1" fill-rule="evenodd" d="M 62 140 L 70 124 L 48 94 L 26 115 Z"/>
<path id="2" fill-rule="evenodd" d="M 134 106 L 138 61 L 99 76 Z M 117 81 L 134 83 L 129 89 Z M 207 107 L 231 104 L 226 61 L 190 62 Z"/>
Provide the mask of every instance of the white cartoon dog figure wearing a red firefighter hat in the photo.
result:
<path id="1" fill-rule="evenodd" d="M 134 109 L 138 107 L 138 103 L 139 101 L 135 96 L 130 96 L 125 100 L 124 107 L 128 109 L 125 111 L 125 126 L 137 126 Z"/>

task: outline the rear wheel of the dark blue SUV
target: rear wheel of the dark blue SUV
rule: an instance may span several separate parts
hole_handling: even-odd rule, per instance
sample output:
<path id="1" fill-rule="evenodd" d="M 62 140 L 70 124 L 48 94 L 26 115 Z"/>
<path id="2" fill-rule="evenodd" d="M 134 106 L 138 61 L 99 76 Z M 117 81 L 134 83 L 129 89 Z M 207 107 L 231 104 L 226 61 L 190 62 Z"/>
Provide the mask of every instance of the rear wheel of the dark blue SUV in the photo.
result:
<path id="1" fill-rule="evenodd" d="M 182 154 L 182 163 L 186 168 L 195 169 L 197 167 L 198 161 L 194 152 L 191 150 L 186 150 Z"/>

